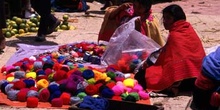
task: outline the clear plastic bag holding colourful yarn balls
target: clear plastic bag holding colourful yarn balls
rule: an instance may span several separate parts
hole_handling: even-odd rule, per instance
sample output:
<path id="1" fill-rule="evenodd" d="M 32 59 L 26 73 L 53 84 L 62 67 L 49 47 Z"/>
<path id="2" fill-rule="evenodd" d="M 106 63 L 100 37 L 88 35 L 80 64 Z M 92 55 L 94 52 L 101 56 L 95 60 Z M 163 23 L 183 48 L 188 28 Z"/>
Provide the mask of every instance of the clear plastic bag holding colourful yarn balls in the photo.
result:
<path id="1" fill-rule="evenodd" d="M 101 57 L 102 64 L 115 65 L 121 72 L 131 73 L 150 53 L 160 48 L 155 41 L 135 30 L 135 19 L 115 31 Z"/>

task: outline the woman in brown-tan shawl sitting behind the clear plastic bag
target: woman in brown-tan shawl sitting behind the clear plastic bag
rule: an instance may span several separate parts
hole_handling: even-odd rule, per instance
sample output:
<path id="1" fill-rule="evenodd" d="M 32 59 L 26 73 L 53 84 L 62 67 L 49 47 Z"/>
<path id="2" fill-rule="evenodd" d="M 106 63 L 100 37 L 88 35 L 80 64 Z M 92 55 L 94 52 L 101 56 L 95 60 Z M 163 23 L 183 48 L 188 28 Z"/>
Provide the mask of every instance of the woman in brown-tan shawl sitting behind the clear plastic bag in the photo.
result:
<path id="1" fill-rule="evenodd" d="M 105 13 L 98 41 L 109 41 L 112 34 L 121 24 L 140 16 L 135 21 L 136 30 L 163 46 L 164 40 L 158 29 L 158 20 L 152 15 L 151 6 L 151 0 L 134 0 L 133 3 L 109 7 Z"/>

